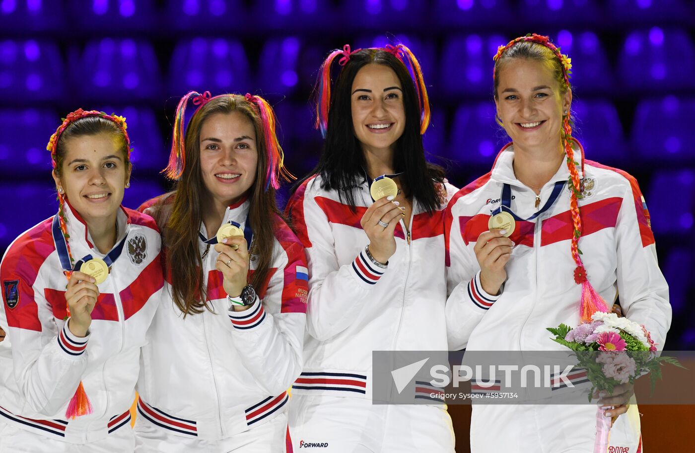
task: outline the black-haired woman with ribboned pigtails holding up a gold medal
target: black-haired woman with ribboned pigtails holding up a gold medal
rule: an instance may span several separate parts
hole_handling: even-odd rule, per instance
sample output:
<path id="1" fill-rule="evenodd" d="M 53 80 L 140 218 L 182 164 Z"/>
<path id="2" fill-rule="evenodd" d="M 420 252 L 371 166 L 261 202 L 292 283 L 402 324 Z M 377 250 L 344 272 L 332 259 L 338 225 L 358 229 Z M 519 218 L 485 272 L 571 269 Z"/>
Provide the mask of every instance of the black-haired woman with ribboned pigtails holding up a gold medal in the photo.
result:
<path id="1" fill-rule="evenodd" d="M 420 65 L 404 45 L 346 45 L 323 63 L 317 89 L 324 149 L 287 208 L 311 283 L 293 445 L 453 452 L 449 415 L 430 393 L 413 401 L 425 404 L 372 404 L 385 396 L 372 393 L 373 351 L 447 349 L 443 209 L 455 189 L 425 160 Z"/>

